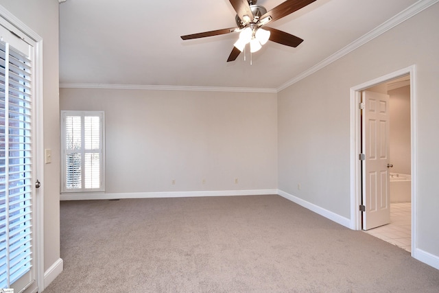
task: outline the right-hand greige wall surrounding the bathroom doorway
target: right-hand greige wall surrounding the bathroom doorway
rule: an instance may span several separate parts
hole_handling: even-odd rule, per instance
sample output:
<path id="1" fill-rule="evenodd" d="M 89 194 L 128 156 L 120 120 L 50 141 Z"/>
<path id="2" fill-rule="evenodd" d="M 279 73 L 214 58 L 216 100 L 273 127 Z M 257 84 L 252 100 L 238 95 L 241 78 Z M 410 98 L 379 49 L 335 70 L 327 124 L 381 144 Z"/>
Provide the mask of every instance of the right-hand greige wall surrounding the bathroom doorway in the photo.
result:
<path id="1" fill-rule="evenodd" d="M 278 188 L 350 217 L 349 89 L 416 65 L 420 250 L 439 257 L 439 4 L 278 93 Z M 301 183 L 301 189 L 297 184 Z"/>

